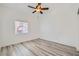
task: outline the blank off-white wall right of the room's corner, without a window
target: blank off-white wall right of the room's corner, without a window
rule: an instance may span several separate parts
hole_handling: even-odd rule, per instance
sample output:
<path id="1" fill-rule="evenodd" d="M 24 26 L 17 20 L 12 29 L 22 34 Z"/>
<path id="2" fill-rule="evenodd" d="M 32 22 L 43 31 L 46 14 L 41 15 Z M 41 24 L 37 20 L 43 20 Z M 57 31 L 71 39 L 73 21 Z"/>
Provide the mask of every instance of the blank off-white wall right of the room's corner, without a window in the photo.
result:
<path id="1" fill-rule="evenodd" d="M 40 37 L 79 49 L 79 4 L 46 4 L 40 19 Z"/>

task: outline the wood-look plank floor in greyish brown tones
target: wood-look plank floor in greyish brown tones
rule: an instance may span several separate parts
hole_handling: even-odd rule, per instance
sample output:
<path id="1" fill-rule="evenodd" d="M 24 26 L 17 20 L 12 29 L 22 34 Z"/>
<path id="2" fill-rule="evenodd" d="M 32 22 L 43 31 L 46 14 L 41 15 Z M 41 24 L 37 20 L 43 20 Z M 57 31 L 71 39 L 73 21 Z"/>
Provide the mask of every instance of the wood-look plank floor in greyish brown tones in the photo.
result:
<path id="1" fill-rule="evenodd" d="M 43 39 L 1 47 L 0 56 L 75 56 L 76 48 Z"/>

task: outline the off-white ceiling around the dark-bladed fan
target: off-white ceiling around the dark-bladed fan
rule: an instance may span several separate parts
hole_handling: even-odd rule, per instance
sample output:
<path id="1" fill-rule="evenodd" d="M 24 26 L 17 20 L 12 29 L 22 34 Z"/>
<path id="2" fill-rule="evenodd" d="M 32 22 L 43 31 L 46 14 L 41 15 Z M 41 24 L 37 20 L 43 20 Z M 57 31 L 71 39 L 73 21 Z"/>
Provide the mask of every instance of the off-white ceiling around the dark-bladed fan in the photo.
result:
<path id="1" fill-rule="evenodd" d="M 19 11 L 21 13 L 25 13 L 25 14 L 32 14 L 33 12 L 33 9 L 27 7 L 28 5 L 31 5 L 31 6 L 36 6 L 37 4 L 36 3 L 1 3 L 0 4 L 0 7 L 1 8 L 8 8 L 8 9 L 12 9 L 12 10 L 15 10 L 15 11 Z M 48 14 L 50 15 L 51 13 L 54 14 L 55 13 L 55 10 L 62 10 L 63 11 L 63 8 L 66 9 L 66 7 L 70 8 L 72 6 L 75 6 L 75 7 L 79 7 L 79 4 L 75 3 L 42 3 L 42 5 L 44 7 L 49 7 L 49 10 L 47 11 L 44 11 L 44 14 L 41 15 L 39 13 L 35 13 L 35 14 L 32 14 L 32 15 L 38 15 L 42 17 L 44 16 L 47 16 Z M 63 7 L 61 9 L 61 7 Z"/>

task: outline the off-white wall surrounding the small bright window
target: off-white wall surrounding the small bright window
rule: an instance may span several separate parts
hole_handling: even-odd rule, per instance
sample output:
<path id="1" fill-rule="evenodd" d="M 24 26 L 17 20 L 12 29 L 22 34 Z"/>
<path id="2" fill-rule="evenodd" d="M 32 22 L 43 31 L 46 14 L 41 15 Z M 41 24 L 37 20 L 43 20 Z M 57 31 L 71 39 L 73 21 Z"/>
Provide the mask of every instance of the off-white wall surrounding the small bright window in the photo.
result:
<path id="1" fill-rule="evenodd" d="M 27 10 L 26 6 L 26 4 L 0 5 L 0 47 L 39 38 L 38 20 L 29 8 Z M 15 35 L 14 22 L 16 20 L 29 23 L 28 34 Z"/>

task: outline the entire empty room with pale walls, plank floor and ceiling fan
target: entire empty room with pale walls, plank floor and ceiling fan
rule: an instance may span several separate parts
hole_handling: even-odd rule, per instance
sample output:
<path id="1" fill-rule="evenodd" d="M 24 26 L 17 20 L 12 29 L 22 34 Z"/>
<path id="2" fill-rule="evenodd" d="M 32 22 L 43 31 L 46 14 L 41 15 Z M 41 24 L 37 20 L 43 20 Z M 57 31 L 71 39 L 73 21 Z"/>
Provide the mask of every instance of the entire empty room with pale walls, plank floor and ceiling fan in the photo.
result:
<path id="1" fill-rule="evenodd" d="M 0 56 L 79 56 L 79 4 L 0 3 Z"/>

